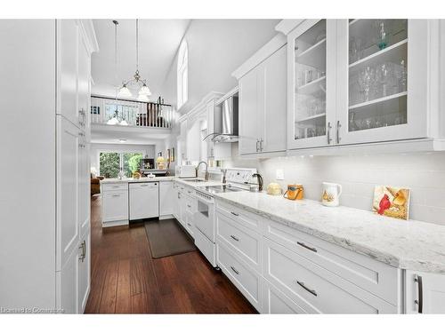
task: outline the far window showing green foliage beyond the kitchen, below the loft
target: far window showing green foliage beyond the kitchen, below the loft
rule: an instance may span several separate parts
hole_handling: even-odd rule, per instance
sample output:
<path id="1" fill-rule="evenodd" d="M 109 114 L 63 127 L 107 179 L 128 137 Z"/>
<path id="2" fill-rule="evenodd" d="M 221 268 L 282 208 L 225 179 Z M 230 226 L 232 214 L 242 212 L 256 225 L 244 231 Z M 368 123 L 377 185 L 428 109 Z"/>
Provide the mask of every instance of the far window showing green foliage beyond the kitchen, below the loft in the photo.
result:
<path id="1" fill-rule="evenodd" d="M 117 178 L 119 170 L 124 170 L 125 177 L 132 177 L 139 170 L 142 153 L 102 152 L 99 154 L 99 170 L 101 176 Z"/>

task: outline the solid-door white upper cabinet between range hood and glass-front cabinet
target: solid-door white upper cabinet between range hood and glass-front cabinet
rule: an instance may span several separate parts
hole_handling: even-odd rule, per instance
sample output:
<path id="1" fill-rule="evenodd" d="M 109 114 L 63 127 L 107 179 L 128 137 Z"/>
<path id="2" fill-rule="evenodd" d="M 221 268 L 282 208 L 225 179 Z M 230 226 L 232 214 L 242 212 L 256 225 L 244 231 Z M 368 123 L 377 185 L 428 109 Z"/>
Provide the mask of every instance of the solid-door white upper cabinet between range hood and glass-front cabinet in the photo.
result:
<path id="1" fill-rule="evenodd" d="M 277 36 L 233 74 L 239 78 L 239 154 L 287 147 L 287 48 Z"/>

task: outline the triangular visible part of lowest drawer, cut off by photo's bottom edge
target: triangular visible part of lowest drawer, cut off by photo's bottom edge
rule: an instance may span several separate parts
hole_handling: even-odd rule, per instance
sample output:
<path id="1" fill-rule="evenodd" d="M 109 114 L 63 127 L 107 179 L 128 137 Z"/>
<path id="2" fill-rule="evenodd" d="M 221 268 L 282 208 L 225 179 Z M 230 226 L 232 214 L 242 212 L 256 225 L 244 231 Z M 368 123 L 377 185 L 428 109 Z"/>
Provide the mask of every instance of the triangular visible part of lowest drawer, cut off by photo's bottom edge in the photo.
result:
<path id="1" fill-rule="evenodd" d="M 303 307 L 295 304 L 289 297 L 275 288 L 269 281 L 264 281 L 263 313 L 295 314 L 307 313 Z"/>

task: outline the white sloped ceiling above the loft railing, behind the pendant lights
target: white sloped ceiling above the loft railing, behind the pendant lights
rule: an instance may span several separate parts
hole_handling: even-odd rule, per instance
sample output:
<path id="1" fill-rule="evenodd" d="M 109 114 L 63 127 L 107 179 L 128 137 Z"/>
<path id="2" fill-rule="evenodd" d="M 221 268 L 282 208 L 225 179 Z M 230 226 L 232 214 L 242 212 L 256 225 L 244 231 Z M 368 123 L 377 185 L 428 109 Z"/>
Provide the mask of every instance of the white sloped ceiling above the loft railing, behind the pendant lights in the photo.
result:
<path id="1" fill-rule="evenodd" d="M 134 75 L 136 23 L 135 20 L 118 22 L 116 78 L 115 26 L 112 20 L 93 20 L 99 43 L 99 52 L 93 53 L 92 59 L 92 93 L 95 95 L 114 97 L 115 86 Z M 190 20 L 139 20 L 139 71 L 148 80 L 152 93 L 150 99 L 158 99 L 168 69 L 189 25 Z"/>

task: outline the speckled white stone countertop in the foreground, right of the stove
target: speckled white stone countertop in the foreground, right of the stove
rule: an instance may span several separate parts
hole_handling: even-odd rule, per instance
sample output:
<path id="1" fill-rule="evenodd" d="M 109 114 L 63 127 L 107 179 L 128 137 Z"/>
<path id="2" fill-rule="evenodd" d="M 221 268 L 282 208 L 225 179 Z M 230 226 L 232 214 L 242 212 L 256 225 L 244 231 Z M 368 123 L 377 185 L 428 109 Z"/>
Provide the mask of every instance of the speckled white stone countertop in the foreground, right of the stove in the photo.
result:
<path id="1" fill-rule="evenodd" d="M 445 274 L 445 226 L 386 218 L 343 206 L 325 207 L 312 200 L 289 201 L 265 193 L 214 196 L 390 266 Z"/>

